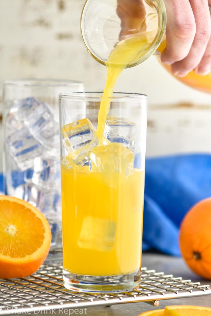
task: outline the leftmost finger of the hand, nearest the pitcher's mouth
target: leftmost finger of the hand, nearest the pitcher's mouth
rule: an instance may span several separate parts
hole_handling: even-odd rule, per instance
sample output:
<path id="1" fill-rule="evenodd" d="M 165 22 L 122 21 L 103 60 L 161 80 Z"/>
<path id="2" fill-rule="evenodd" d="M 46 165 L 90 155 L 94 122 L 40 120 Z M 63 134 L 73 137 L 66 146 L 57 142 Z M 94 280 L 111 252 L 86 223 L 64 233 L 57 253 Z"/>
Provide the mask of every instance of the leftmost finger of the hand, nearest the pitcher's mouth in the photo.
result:
<path id="1" fill-rule="evenodd" d="M 166 48 L 161 62 L 173 64 L 185 58 L 193 43 L 196 26 L 188 0 L 165 0 L 167 11 Z"/>

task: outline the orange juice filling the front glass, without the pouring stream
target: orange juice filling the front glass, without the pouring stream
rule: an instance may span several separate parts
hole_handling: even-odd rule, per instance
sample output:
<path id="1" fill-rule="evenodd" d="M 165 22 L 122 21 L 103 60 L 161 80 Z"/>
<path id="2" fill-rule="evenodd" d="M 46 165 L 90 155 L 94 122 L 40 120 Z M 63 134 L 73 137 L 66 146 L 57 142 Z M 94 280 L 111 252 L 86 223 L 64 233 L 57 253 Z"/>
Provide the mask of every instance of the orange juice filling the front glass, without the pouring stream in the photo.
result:
<path id="1" fill-rule="evenodd" d="M 64 269 L 96 276 L 138 270 L 144 171 L 61 172 Z"/>

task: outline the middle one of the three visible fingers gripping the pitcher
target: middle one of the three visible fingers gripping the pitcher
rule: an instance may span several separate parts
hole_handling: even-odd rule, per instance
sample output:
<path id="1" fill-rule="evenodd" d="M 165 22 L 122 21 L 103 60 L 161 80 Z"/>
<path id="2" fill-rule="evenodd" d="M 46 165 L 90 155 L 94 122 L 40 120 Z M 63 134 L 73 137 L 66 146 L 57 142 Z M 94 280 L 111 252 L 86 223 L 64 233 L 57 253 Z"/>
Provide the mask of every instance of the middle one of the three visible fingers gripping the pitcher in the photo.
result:
<path id="1" fill-rule="evenodd" d="M 173 75 L 185 76 L 197 67 L 210 39 L 211 21 L 207 0 L 189 0 L 195 16 L 196 33 L 189 54 L 183 60 L 171 65 Z"/>

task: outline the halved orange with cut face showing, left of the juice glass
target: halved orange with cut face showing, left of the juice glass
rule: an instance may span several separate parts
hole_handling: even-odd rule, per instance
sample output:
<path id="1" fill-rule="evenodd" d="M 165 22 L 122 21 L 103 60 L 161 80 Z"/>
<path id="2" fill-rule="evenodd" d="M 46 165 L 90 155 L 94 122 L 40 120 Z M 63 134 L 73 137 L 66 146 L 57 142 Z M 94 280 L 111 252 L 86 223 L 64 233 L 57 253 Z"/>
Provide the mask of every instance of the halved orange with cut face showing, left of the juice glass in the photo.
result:
<path id="1" fill-rule="evenodd" d="M 39 269 L 51 245 L 45 216 L 28 202 L 0 196 L 0 278 L 25 277 Z"/>

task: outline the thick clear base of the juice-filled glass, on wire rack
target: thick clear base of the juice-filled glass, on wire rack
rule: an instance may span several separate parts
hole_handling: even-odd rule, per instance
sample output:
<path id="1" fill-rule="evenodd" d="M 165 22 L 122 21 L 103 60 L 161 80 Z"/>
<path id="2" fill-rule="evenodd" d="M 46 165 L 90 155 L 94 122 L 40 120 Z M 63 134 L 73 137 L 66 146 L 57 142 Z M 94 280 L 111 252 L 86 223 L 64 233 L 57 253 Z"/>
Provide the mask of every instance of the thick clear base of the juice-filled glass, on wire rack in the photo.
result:
<path id="1" fill-rule="evenodd" d="M 140 269 L 133 273 L 111 276 L 87 276 L 63 269 L 63 283 L 66 289 L 89 293 L 121 293 L 138 289 Z"/>

